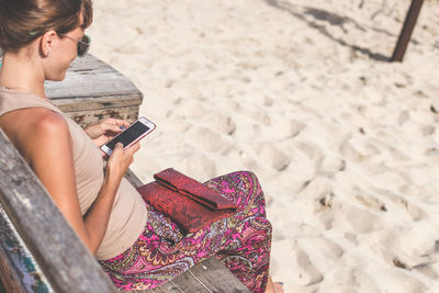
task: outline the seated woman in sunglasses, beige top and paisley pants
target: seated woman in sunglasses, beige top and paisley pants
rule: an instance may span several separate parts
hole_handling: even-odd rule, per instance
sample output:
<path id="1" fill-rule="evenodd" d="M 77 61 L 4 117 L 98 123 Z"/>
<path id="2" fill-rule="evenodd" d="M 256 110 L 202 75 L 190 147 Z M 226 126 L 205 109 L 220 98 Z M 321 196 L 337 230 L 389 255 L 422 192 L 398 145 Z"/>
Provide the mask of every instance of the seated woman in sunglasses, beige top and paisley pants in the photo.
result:
<path id="1" fill-rule="evenodd" d="M 155 288 L 215 255 L 254 292 L 282 292 L 268 274 L 271 225 L 252 173 L 206 182 L 240 210 L 183 235 L 123 178 L 138 144 L 116 145 L 102 172 L 98 147 L 130 124 L 108 119 L 83 131 L 45 95 L 44 81 L 63 80 L 87 53 L 91 0 L 0 0 L 0 127 L 117 288 Z"/>

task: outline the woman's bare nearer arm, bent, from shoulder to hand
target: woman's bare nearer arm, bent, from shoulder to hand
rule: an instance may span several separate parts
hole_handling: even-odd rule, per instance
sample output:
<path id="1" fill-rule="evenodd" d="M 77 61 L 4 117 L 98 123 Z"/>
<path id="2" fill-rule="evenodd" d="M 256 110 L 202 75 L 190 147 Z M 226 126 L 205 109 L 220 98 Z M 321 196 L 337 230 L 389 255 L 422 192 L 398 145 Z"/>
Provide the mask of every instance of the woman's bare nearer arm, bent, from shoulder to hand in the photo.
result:
<path id="1" fill-rule="evenodd" d="M 109 159 L 103 184 L 93 205 L 82 218 L 76 190 L 72 145 L 67 122 L 44 111 L 26 138 L 30 165 L 45 185 L 63 215 L 92 253 L 105 234 L 114 196 L 138 145 L 124 150 L 116 147 Z"/>

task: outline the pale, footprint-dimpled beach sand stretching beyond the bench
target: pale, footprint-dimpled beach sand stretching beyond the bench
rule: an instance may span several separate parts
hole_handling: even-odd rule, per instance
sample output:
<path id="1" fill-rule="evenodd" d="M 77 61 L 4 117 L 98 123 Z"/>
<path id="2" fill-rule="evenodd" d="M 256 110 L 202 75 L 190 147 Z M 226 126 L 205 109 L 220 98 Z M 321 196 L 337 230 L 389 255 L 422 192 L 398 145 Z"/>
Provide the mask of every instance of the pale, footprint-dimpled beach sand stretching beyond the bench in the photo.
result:
<path id="1" fill-rule="evenodd" d="M 134 171 L 255 172 L 285 292 L 439 292 L 439 1 L 94 0 L 157 124 Z"/>

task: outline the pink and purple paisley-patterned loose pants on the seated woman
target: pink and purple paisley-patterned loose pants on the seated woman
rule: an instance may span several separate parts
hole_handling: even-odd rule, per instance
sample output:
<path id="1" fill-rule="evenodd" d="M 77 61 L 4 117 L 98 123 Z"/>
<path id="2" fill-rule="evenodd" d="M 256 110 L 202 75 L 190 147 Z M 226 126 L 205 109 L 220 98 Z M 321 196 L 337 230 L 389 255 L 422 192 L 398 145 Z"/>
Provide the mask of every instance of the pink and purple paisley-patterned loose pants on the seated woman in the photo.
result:
<path id="1" fill-rule="evenodd" d="M 183 235 L 164 214 L 147 205 L 148 221 L 136 243 L 123 253 L 100 261 L 121 290 L 156 288 L 211 256 L 219 259 L 252 292 L 268 281 L 271 224 L 256 176 L 239 171 L 205 184 L 234 201 L 239 211 L 229 218 Z"/>

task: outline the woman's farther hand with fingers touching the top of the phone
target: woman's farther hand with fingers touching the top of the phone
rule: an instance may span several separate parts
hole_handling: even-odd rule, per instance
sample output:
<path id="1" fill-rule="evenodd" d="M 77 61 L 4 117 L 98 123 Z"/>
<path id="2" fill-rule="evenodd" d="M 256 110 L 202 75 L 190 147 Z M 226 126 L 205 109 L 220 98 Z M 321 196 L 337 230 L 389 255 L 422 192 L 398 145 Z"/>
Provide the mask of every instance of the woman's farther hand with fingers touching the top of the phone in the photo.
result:
<path id="1" fill-rule="evenodd" d="M 124 120 L 105 119 L 98 124 L 87 127 L 86 133 L 98 147 L 101 147 L 128 126 L 130 123 Z"/>

